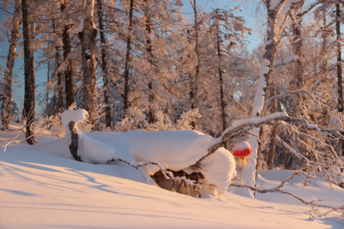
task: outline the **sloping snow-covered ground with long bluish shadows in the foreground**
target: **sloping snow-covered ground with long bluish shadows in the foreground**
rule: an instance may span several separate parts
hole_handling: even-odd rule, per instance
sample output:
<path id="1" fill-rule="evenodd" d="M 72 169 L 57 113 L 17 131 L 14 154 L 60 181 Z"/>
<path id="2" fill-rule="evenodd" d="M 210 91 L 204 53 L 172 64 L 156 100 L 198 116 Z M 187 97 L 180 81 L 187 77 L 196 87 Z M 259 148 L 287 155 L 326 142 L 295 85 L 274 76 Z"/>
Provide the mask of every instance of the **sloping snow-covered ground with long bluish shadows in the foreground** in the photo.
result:
<path id="1" fill-rule="evenodd" d="M 164 134 L 173 143 L 180 138 L 177 133 L 154 133 L 154 140 L 144 131 L 138 132 L 137 139 L 132 139 L 130 133 L 87 135 L 118 146 L 116 153 L 124 157 L 133 141 L 141 141 L 142 148 L 134 149 L 139 152 L 149 148 L 149 141 L 161 144 Z M 36 146 L 28 146 L 20 131 L 0 130 L 0 145 L 5 146 L 17 134 L 19 137 L 6 152 L 4 148 L 0 151 L 0 228 L 344 228 L 340 213 L 313 219 L 309 206 L 284 194 L 257 194 L 252 199 L 236 195 L 235 188 L 230 188 L 232 192 L 226 191 L 218 199 L 166 191 L 147 180 L 144 171 L 129 165 L 70 159 L 65 139 L 42 138 Z M 120 137 L 114 138 L 116 134 Z M 192 141 L 188 139 L 191 136 L 182 136 L 185 144 Z M 170 144 L 168 149 L 154 149 L 183 147 Z M 200 144 L 194 147 L 204 150 Z M 284 170 L 261 171 L 257 187 L 275 187 L 290 174 Z M 326 181 L 313 180 L 311 186 L 305 187 L 294 178 L 283 189 L 305 200 L 344 205 L 344 189 L 334 185 L 331 189 Z M 317 217 L 326 211 L 320 209 L 312 214 Z"/>

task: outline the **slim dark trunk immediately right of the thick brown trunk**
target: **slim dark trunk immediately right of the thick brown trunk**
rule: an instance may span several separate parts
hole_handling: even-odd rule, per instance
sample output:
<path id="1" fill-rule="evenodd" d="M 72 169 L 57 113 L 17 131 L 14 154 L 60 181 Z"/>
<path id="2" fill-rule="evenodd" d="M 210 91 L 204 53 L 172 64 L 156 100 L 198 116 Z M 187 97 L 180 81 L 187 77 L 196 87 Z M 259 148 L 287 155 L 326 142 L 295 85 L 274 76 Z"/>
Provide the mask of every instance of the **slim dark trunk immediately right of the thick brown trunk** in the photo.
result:
<path id="1" fill-rule="evenodd" d="M 101 43 L 101 54 L 102 54 L 102 73 L 103 73 L 103 84 L 104 84 L 104 103 L 105 103 L 105 124 L 106 127 L 111 127 L 111 108 L 109 104 L 109 90 L 108 90 L 108 71 L 106 62 L 106 39 L 103 25 L 103 9 L 101 0 L 97 0 L 98 3 L 98 20 L 99 20 L 99 33 Z"/>

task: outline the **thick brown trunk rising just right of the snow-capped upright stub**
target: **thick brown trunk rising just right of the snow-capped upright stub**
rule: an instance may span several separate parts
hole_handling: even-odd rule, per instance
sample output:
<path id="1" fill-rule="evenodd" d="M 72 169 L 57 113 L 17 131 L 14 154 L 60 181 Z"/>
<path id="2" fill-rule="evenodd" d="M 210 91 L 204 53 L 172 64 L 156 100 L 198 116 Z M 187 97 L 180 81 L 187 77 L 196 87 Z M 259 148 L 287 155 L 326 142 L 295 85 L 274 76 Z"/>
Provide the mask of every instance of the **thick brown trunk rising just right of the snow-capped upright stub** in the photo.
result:
<path id="1" fill-rule="evenodd" d="M 83 72 L 83 107 L 90 114 L 90 121 L 96 126 L 96 97 L 97 97 L 97 75 L 96 75 L 96 46 L 97 27 L 94 23 L 94 0 L 87 0 L 84 9 L 84 18 L 79 27 L 79 39 L 82 53 Z M 80 31 L 80 29 L 82 29 Z"/>

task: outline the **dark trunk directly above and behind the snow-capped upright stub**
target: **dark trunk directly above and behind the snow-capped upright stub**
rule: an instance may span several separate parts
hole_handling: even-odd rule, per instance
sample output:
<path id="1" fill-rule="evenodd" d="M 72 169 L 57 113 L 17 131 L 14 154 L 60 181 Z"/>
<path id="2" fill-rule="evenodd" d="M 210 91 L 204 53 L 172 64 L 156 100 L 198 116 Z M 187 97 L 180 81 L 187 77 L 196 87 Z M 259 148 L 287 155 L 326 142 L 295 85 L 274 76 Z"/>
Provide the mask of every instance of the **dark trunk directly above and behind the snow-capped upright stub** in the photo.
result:
<path id="1" fill-rule="evenodd" d="M 68 7 L 68 0 L 61 1 L 61 13 Z M 73 63 L 68 54 L 71 53 L 72 45 L 70 40 L 69 24 L 65 24 L 62 33 L 63 42 L 63 58 L 68 62 L 65 70 L 65 90 L 66 90 L 66 108 L 74 103 L 74 79 L 73 79 Z"/>

